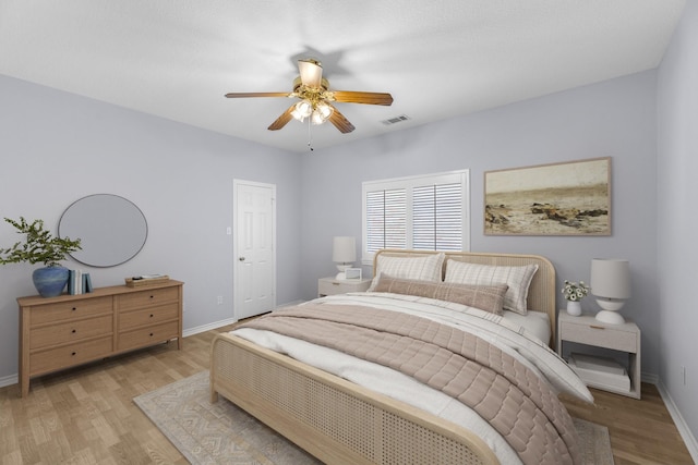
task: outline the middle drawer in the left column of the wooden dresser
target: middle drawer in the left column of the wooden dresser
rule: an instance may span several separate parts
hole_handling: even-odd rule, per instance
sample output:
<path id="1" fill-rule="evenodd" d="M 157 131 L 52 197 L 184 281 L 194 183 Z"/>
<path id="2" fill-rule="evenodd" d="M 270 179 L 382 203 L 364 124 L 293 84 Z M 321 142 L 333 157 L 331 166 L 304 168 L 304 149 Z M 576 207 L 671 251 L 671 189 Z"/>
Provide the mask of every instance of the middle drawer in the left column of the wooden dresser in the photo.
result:
<path id="1" fill-rule="evenodd" d="M 86 320 L 68 321 L 58 325 L 33 328 L 29 334 L 29 348 L 49 347 L 65 342 L 76 342 L 97 335 L 111 335 L 113 333 L 113 317 L 101 317 Z"/>

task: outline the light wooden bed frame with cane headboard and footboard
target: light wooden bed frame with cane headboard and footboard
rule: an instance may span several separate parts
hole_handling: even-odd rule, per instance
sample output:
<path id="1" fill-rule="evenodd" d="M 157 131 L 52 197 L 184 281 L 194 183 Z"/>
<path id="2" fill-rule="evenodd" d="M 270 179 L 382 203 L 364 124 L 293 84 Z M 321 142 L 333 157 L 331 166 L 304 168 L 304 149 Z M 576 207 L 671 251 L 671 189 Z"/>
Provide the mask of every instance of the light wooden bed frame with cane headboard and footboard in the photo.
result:
<path id="1" fill-rule="evenodd" d="M 406 257 L 434 253 L 381 250 L 374 269 L 382 254 Z M 555 268 L 546 258 L 446 255 L 447 259 L 482 265 L 537 264 L 528 305 L 550 316 L 550 343 L 554 343 Z M 228 333 L 218 334 L 212 343 L 212 402 L 218 394 L 325 463 L 500 463 L 484 441 L 466 428 Z"/>

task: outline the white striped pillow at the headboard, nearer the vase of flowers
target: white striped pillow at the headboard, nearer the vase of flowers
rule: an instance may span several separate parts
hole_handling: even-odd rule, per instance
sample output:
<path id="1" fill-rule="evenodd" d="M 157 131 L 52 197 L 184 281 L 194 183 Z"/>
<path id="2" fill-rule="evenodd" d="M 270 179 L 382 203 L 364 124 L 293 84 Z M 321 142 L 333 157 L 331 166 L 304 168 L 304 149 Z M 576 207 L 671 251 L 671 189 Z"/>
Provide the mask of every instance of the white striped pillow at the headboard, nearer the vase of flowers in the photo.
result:
<path id="1" fill-rule="evenodd" d="M 535 271 L 538 271 L 538 265 L 503 267 L 448 260 L 444 282 L 478 285 L 507 284 L 509 289 L 504 294 L 504 308 L 526 315 L 528 286 Z"/>

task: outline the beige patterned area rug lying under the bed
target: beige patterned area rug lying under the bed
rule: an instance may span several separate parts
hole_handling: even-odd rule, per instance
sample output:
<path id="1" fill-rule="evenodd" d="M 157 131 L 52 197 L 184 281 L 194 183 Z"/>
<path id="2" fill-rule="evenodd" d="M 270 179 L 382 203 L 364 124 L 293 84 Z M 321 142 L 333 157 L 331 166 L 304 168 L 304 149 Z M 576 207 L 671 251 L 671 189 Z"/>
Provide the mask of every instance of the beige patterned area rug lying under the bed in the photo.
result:
<path id="1" fill-rule="evenodd" d="M 209 402 L 208 371 L 133 401 L 192 464 L 320 464 L 222 396 Z M 585 464 L 613 465 L 607 428 L 575 418 Z"/>

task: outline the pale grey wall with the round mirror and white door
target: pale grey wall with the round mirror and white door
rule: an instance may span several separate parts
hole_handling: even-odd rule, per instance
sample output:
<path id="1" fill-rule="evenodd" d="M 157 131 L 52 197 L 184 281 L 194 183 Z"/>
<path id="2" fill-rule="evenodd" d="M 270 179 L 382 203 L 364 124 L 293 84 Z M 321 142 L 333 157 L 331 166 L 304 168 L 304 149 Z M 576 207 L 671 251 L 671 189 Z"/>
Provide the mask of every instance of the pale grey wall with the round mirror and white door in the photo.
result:
<path id="1" fill-rule="evenodd" d="M 143 250 L 115 268 L 92 268 L 95 286 L 168 273 L 185 282 L 184 329 L 232 315 L 232 181 L 277 186 L 277 302 L 300 297 L 300 155 L 246 143 L 0 76 L 0 218 L 43 219 L 89 194 L 136 204 L 148 222 Z M 20 236 L 0 221 L 0 246 Z M 0 266 L 0 381 L 17 372 L 15 298 L 36 294 L 28 264 Z M 224 297 L 218 305 L 217 296 Z M 1 386 L 1 383 L 0 383 Z"/>

